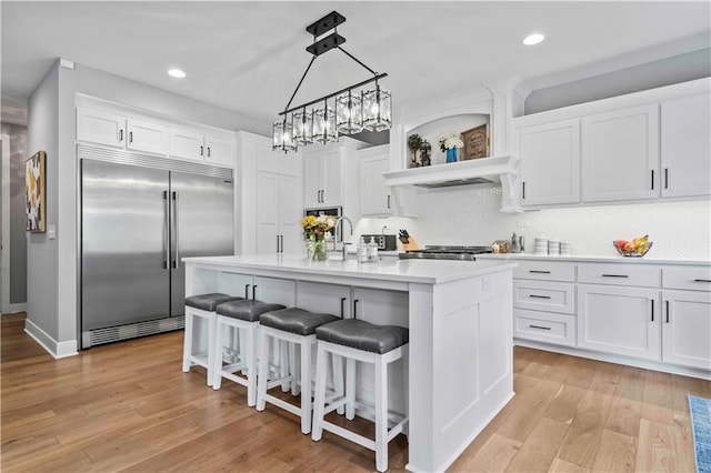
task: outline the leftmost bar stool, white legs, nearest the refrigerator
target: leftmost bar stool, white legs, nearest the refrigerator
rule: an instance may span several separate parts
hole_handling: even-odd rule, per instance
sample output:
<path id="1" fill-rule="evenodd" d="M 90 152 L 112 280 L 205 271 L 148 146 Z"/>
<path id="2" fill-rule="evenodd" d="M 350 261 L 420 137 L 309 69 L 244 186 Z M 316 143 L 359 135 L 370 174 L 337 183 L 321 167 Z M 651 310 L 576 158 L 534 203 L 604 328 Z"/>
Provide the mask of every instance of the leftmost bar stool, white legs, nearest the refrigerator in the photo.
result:
<path id="1" fill-rule="evenodd" d="M 238 301 L 243 298 L 222 293 L 197 294 L 186 298 L 186 333 L 182 346 L 182 371 L 187 373 L 193 364 L 203 366 L 208 371 L 208 385 L 212 385 L 214 374 L 212 373 L 212 351 L 214 346 L 214 309 L 229 301 Z M 207 352 L 193 353 L 193 345 L 198 340 L 194 338 L 196 318 L 203 319 L 208 323 L 208 349 Z"/>

